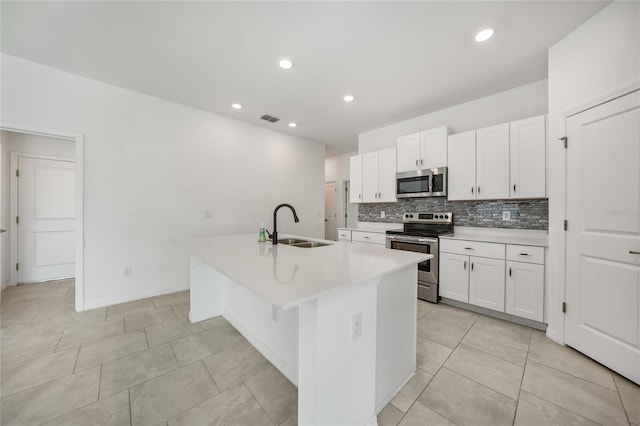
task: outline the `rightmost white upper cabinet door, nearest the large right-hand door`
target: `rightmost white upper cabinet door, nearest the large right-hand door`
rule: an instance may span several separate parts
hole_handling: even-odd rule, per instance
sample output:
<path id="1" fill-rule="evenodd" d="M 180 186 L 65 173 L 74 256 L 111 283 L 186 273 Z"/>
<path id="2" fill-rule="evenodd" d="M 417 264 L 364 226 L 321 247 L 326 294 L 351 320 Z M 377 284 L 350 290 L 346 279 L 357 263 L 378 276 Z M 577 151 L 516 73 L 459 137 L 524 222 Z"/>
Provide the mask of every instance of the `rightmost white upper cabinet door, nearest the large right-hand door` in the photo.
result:
<path id="1" fill-rule="evenodd" d="M 509 125 L 511 198 L 546 196 L 547 129 L 545 116 Z"/>

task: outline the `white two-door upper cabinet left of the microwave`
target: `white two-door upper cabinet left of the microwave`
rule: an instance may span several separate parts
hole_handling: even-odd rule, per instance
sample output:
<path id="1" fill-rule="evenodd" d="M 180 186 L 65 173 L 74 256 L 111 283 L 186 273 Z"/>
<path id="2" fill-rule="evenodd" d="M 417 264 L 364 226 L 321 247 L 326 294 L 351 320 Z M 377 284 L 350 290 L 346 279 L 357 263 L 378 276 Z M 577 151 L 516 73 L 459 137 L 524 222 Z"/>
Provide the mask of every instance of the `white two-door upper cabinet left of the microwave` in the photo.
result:
<path id="1" fill-rule="evenodd" d="M 350 158 L 352 203 L 396 201 L 396 149 L 389 148 Z"/>

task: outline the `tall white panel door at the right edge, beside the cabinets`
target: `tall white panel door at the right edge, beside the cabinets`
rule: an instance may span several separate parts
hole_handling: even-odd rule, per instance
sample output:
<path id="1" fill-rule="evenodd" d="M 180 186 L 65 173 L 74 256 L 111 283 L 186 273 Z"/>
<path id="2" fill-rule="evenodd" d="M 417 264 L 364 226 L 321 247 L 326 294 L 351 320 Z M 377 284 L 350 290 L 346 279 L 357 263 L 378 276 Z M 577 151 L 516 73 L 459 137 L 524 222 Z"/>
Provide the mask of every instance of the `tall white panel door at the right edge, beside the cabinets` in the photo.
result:
<path id="1" fill-rule="evenodd" d="M 640 91 L 567 120 L 566 343 L 640 383 Z"/>

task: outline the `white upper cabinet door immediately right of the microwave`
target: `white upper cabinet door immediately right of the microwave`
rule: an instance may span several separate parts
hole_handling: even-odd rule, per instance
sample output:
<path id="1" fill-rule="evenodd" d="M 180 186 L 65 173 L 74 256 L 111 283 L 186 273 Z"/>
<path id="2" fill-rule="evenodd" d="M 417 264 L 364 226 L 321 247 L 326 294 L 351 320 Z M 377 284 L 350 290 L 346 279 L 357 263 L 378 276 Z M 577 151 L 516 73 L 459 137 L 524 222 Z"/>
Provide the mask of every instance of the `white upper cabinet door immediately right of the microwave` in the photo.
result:
<path id="1" fill-rule="evenodd" d="M 476 198 L 476 132 L 475 130 L 449 136 L 449 200 Z"/>

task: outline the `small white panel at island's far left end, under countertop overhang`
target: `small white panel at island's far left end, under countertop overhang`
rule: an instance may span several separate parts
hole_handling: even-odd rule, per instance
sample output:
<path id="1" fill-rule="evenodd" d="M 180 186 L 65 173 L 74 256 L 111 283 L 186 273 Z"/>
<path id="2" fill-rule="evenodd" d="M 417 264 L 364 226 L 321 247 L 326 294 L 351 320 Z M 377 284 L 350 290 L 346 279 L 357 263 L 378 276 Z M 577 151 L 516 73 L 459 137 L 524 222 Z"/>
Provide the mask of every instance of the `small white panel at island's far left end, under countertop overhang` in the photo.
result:
<path id="1" fill-rule="evenodd" d="M 189 321 L 198 322 L 222 315 L 226 281 L 228 279 L 224 275 L 190 257 Z"/>

